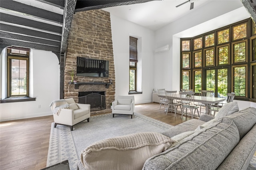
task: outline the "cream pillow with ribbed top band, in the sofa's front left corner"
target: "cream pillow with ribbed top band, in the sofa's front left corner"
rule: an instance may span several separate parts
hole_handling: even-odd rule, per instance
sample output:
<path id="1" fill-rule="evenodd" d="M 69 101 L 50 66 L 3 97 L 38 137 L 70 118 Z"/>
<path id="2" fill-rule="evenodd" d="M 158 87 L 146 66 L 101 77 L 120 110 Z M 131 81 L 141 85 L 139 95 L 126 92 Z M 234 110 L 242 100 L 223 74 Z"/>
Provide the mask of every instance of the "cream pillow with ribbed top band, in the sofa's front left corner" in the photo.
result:
<path id="1" fill-rule="evenodd" d="M 156 132 L 142 132 L 99 141 L 81 154 L 86 170 L 141 170 L 144 162 L 175 141 Z"/>

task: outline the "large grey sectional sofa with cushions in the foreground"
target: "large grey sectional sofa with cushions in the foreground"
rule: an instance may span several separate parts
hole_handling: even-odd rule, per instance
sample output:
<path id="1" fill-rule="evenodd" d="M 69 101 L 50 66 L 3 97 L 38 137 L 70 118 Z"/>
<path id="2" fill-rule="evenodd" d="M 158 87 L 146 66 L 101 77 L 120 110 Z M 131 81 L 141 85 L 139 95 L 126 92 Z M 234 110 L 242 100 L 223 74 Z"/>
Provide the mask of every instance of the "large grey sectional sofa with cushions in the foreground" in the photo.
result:
<path id="1" fill-rule="evenodd" d="M 226 104 L 163 133 L 135 133 L 86 148 L 78 169 L 246 170 L 256 151 L 256 108 Z"/>

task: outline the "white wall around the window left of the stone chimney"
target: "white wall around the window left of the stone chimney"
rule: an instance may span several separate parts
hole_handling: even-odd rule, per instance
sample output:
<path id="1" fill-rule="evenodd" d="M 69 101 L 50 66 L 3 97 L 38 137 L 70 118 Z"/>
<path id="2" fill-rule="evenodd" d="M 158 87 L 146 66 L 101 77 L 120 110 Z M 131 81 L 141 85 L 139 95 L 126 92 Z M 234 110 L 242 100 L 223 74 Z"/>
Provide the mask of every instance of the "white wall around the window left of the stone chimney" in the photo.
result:
<path id="1" fill-rule="evenodd" d="M 60 97 L 59 61 L 54 53 L 31 50 L 30 97 L 36 101 L 1 103 L 0 121 L 52 115 L 49 105 Z"/>

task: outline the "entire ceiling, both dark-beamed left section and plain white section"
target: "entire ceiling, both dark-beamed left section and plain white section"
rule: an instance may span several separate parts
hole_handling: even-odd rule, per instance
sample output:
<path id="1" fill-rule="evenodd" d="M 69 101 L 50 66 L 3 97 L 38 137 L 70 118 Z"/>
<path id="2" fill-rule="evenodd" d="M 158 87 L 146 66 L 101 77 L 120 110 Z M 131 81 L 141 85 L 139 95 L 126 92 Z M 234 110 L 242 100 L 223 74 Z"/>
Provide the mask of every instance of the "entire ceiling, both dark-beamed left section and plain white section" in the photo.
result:
<path id="1" fill-rule="evenodd" d="M 250 3 L 248 6 L 255 11 L 255 0 L 242 1 Z M 192 2 L 194 8 L 190 10 Z M 156 30 L 208 3 L 209 0 L 1 0 L 0 50 L 12 45 L 27 47 L 52 51 L 60 59 L 75 12 L 104 8 Z M 179 4 L 182 5 L 177 8 Z"/>

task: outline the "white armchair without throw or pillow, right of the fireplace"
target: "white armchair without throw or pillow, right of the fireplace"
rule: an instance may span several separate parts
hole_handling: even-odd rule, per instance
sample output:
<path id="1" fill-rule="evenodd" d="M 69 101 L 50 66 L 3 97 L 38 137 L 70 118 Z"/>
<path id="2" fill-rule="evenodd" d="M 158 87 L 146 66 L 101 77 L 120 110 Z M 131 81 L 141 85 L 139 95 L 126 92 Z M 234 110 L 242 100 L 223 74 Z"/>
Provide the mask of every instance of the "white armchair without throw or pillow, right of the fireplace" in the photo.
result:
<path id="1" fill-rule="evenodd" d="M 134 96 L 118 96 L 118 99 L 112 102 L 112 114 L 114 115 L 132 115 L 134 113 Z"/>

